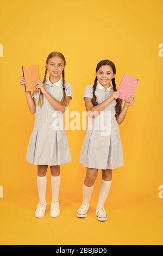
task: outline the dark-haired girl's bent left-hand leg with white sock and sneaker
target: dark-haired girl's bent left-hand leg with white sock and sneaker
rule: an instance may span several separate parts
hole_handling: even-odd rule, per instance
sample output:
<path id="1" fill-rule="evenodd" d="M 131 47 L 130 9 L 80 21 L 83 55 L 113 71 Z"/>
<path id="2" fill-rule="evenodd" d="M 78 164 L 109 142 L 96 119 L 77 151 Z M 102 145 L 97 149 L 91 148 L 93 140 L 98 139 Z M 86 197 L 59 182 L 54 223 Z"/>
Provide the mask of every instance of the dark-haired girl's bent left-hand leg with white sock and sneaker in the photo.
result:
<path id="1" fill-rule="evenodd" d="M 87 211 L 89 210 L 90 199 L 94 188 L 94 183 L 97 178 L 98 169 L 87 168 L 86 176 L 83 182 L 83 203 L 77 210 L 77 216 L 84 218 L 87 216 Z"/>

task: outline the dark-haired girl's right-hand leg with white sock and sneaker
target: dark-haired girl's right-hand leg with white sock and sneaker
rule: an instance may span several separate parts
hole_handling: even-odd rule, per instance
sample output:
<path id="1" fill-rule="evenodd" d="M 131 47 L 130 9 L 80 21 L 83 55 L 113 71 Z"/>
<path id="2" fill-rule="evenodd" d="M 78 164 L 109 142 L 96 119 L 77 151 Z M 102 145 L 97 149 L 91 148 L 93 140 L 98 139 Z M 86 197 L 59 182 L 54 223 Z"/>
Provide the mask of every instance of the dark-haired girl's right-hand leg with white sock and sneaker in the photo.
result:
<path id="1" fill-rule="evenodd" d="M 99 221 L 107 220 L 106 212 L 104 210 L 104 203 L 106 198 L 108 197 L 109 190 L 111 187 L 111 182 L 112 182 L 112 170 L 111 169 L 102 170 L 102 180 L 101 180 L 101 186 L 99 191 L 98 204 L 96 207 L 96 215 Z"/>

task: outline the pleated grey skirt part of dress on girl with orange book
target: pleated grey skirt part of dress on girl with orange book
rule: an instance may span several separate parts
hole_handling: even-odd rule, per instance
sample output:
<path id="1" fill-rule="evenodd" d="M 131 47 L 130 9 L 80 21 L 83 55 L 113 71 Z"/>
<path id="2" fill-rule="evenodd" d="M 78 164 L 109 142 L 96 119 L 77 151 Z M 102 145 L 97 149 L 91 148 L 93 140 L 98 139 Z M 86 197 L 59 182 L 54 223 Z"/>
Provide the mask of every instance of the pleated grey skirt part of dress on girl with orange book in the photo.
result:
<path id="1" fill-rule="evenodd" d="M 53 130 L 50 123 L 36 123 L 30 135 L 26 160 L 34 165 L 61 165 L 71 161 L 65 130 Z"/>

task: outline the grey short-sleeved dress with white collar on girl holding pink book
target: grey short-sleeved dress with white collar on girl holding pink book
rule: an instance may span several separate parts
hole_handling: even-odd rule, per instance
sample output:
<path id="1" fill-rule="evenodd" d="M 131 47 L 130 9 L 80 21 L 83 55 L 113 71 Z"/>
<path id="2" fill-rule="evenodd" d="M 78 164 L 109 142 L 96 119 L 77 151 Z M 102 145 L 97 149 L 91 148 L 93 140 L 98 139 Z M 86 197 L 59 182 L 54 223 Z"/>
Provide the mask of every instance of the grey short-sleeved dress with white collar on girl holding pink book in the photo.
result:
<path id="1" fill-rule="evenodd" d="M 93 97 L 92 85 L 85 87 L 84 97 Z M 97 82 L 95 94 L 97 96 L 97 102 L 101 103 L 108 99 L 113 92 L 113 88 L 104 88 L 102 84 Z M 84 98 L 83 97 L 83 98 Z M 121 104 L 122 104 L 121 100 Z M 105 116 L 104 122 L 106 124 L 106 111 L 110 113 L 110 132 L 109 135 L 102 136 L 101 130 L 95 129 L 95 123 L 93 124 L 92 118 L 92 130 L 88 129 L 82 145 L 82 151 L 80 154 L 80 163 L 85 167 L 95 169 L 115 169 L 123 166 L 123 149 L 121 143 L 121 136 L 119 125 L 115 118 L 115 105 L 116 100 L 110 102 L 104 109 L 103 115 Z M 95 121 L 94 121 L 95 122 Z"/>

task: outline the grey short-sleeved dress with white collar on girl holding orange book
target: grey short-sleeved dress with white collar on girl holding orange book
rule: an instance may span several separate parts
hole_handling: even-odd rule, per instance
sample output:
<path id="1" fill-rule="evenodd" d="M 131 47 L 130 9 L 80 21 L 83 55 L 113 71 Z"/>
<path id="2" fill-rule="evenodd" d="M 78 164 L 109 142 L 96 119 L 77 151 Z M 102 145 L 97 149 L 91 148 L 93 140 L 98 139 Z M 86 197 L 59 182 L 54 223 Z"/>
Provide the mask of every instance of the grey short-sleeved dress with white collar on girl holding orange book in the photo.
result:
<path id="1" fill-rule="evenodd" d="M 71 84 L 65 82 L 65 87 L 66 95 L 71 96 L 72 99 Z M 63 96 L 61 78 L 53 84 L 47 78 L 45 89 L 56 100 L 61 101 Z M 55 118 L 58 118 L 58 111 L 52 107 L 44 95 L 42 106 L 37 106 L 39 94 L 40 91 L 34 91 L 33 93 L 33 97 L 36 99 L 35 123 L 29 139 L 26 160 L 34 165 L 47 164 L 49 166 L 70 162 L 71 153 L 64 126 L 60 130 L 54 130 L 52 126 Z M 60 113 L 60 115 L 62 114 Z"/>

